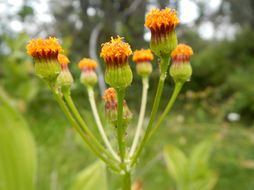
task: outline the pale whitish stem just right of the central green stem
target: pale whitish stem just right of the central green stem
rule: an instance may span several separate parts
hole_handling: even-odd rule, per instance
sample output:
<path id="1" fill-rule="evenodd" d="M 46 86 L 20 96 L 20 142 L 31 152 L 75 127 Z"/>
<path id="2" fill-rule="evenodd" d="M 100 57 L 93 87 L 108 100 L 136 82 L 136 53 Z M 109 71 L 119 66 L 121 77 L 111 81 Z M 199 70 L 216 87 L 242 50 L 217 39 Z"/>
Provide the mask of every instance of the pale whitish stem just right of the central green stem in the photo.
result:
<path id="1" fill-rule="evenodd" d="M 136 129 L 136 132 L 135 132 L 134 140 L 133 140 L 131 150 L 130 150 L 130 154 L 129 154 L 130 158 L 133 156 L 133 154 L 135 152 L 135 149 L 137 148 L 139 137 L 140 137 L 140 134 L 141 134 L 142 125 L 143 125 L 143 122 L 144 122 L 146 104 L 147 104 L 147 91 L 148 91 L 148 88 L 149 88 L 148 77 L 143 77 L 142 78 L 142 84 L 143 84 L 143 90 L 142 90 L 141 106 L 140 106 L 137 129 Z"/>

